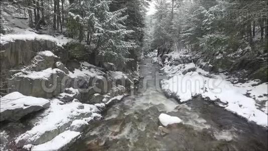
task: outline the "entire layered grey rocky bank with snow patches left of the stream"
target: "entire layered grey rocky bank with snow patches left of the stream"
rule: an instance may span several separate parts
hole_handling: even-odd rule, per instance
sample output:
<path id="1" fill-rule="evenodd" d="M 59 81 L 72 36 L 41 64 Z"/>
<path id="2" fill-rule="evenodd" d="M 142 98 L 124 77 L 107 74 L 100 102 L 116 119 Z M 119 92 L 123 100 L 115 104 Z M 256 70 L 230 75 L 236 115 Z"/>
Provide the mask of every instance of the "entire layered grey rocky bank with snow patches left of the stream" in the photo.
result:
<path id="1" fill-rule="evenodd" d="M 1 44 L 1 148 L 66 148 L 89 122 L 100 120 L 103 110 L 133 90 L 137 70 L 95 54 L 75 42 Z M 18 125 L 18 131 L 12 130 Z"/>

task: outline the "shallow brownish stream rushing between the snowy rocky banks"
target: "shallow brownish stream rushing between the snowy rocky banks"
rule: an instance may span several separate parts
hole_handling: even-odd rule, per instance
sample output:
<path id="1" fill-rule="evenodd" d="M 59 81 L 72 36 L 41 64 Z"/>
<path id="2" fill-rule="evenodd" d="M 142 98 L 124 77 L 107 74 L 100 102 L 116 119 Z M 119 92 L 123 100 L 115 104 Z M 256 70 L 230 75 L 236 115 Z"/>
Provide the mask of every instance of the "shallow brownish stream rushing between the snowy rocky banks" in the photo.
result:
<path id="1" fill-rule="evenodd" d="M 168 99 L 156 89 L 160 66 L 141 63 L 147 87 L 124 98 L 90 124 L 69 150 L 267 150 L 267 130 L 197 97 L 185 104 Z M 161 125 L 167 113 L 183 124 Z M 165 131 L 165 132 L 161 132 Z"/>

